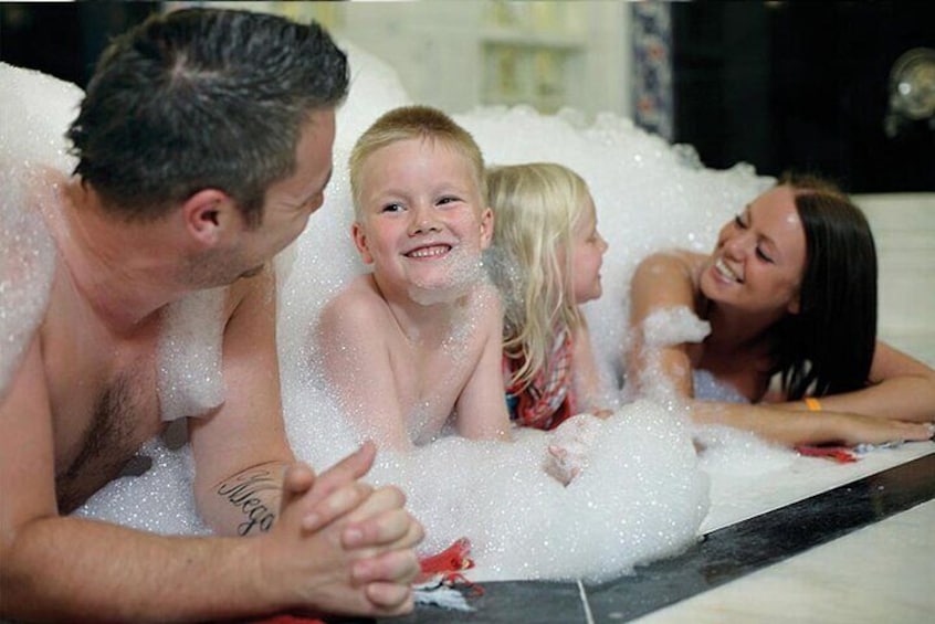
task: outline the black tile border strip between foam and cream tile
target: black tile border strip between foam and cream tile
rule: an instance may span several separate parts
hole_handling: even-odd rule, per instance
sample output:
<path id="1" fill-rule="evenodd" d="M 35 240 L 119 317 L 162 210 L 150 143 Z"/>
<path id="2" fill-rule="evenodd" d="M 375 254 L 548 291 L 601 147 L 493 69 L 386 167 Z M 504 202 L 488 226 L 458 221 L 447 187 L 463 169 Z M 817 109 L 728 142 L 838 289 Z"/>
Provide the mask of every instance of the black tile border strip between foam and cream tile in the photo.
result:
<path id="1" fill-rule="evenodd" d="M 851 531 L 935 498 L 935 454 L 725 527 L 680 556 L 641 567 L 632 575 L 586 586 L 595 622 L 627 622 L 750 572 L 800 554 Z M 577 583 L 481 583 L 473 612 L 418 606 L 389 623 L 490 624 L 587 622 Z"/>

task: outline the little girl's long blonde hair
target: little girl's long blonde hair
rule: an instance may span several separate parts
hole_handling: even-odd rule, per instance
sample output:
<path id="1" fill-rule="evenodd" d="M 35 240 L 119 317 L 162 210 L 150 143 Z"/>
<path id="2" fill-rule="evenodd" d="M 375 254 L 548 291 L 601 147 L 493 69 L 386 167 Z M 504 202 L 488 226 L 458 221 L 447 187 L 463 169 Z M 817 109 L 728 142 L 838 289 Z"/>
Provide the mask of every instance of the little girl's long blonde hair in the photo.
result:
<path id="1" fill-rule="evenodd" d="M 571 245 L 590 191 L 580 176 L 554 162 L 492 167 L 487 189 L 493 247 L 505 263 L 492 272 L 504 297 L 503 351 L 524 360 L 511 382 L 525 387 L 546 366 L 556 331 L 574 332 L 582 322 Z"/>

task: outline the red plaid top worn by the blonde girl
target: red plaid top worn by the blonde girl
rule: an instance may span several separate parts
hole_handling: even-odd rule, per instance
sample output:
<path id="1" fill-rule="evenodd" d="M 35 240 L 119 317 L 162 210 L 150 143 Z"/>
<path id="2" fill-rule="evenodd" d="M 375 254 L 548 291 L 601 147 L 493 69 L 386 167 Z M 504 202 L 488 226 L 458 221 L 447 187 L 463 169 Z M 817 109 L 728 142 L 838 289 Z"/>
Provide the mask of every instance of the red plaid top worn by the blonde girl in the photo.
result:
<path id="1" fill-rule="evenodd" d="M 512 420 L 523 426 L 549 430 L 576 414 L 571 352 L 571 336 L 568 329 L 563 329 L 555 336 L 545 369 L 539 370 L 533 382 L 525 388 L 509 383 L 513 372 L 523 366 L 523 360 L 504 356 L 506 404 Z"/>

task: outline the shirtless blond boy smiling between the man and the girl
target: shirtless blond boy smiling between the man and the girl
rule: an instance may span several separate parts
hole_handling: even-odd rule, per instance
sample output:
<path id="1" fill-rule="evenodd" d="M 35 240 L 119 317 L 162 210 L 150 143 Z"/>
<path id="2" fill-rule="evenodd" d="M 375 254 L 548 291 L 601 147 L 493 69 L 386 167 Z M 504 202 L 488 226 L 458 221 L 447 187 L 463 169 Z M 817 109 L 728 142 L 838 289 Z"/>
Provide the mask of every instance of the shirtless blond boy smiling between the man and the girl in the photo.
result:
<path id="1" fill-rule="evenodd" d="M 491 242 L 484 162 L 443 113 L 397 108 L 350 156 L 355 245 L 372 272 L 323 310 L 325 371 L 358 431 L 409 450 L 447 424 L 508 438 L 502 309 L 481 254 Z"/>

